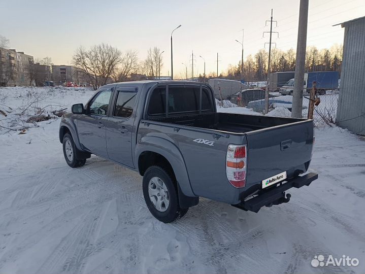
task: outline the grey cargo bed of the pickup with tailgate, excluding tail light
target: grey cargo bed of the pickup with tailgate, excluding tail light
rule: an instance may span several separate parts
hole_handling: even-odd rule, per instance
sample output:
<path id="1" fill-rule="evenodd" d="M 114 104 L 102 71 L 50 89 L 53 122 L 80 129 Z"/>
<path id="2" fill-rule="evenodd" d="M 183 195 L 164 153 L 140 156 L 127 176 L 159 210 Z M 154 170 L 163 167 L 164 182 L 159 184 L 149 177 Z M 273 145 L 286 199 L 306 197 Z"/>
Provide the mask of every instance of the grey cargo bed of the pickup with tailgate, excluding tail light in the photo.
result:
<path id="1" fill-rule="evenodd" d="M 282 172 L 288 179 L 305 173 L 313 145 L 312 120 L 258 115 L 208 113 L 150 118 L 141 120 L 139 132 L 165 136 L 178 146 L 192 194 L 230 204 L 238 204 L 260 190 L 263 179 Z M 210 146 L 194 140 L 214 143 Z M 245 188 L 225 183 L 229 144 L 247 145 Z M 202 178 L 211 179 L 202 183 Z"/>

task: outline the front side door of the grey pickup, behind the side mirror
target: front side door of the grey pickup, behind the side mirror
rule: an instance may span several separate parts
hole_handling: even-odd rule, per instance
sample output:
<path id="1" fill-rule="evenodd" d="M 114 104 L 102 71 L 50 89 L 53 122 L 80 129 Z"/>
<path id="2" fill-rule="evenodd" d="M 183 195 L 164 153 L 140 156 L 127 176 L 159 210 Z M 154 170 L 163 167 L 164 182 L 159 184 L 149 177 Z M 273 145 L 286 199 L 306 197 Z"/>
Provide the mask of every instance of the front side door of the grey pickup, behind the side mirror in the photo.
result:
<path id="1" fill-rule="evenodd" d="M 112 98 L 112 88 L 100 90 L 89 102 L 86 114 L 77 120 L 80 143 L 90 152 L 108 157 L 106 122 Z"/>

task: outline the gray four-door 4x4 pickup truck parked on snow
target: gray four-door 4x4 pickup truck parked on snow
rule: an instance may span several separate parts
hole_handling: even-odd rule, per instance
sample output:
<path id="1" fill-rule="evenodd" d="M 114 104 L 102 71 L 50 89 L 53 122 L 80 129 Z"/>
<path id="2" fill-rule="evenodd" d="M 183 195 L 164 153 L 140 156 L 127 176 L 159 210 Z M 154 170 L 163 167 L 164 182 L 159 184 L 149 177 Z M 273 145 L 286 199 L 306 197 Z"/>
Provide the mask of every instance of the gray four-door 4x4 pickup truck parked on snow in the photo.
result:
<path id="1" fill-rule="evenodd" d="M 197 82 L 103 86 L 62 116 L 59 140 L 71 167 L 95 154 L 138 171 L 149 211 L 165 223 L 199 197 L 258 212 L 318 178 L 303 175 L 312 120 L 219 113 L 212 88 Z"/>

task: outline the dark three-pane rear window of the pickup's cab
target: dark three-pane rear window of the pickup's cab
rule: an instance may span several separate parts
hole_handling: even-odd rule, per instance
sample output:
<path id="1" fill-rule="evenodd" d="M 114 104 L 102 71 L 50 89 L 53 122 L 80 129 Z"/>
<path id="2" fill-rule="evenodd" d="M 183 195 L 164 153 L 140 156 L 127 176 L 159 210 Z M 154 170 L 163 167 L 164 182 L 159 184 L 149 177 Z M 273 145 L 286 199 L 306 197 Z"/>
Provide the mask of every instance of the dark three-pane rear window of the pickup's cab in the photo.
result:
<path id="1" fill-rule="evenodd" d="M 183 112 L 198 112 L 200 87 L 169 86 L 168 110 L 169 114 Z M 166 88 L 158 87 L 150 97 L 148 114 L 164 114 L 166 106 Z M 206 88 L 202 90 L 202 111 L 211 111 L 210 93 Z"/>

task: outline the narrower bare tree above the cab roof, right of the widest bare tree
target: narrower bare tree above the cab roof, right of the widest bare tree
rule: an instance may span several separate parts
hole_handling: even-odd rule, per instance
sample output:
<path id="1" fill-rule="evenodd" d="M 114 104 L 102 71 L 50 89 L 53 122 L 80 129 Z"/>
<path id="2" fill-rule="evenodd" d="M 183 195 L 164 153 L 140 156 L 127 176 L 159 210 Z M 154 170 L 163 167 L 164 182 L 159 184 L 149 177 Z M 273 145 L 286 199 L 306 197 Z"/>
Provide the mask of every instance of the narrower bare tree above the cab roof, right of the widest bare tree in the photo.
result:
<path id="1" fill-rule="evenodd" d="M 139 70 L 137 51 L 129 50 L 122 55 L 120 64 L 115 68 L 112 77 L 115 82 L 126 81 L 131 74 Z"/>

